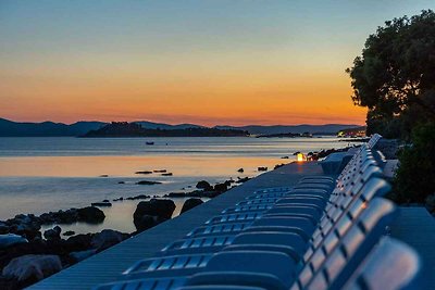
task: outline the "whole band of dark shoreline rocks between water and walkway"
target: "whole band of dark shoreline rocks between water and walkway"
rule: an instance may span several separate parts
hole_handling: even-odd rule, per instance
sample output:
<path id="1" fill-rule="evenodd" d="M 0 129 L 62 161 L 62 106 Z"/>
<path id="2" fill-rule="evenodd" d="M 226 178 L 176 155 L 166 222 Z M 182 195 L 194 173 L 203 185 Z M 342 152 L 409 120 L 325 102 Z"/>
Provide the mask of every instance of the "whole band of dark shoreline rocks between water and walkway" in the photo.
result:
<path id="1" fill-rule="evenodd" d="M 141 173 L 142 174 L 142 173 Z M 170 218 L 175 211 L 172 199 L 188 198 L 181 214 L 203 203 L 201 198 L 212 199 L 231 187 L 249 180 L 249 177 L 211 185 L 200 180 L 189 192 L 170 192 L 163 197 L 138 194 L 92 202 L 82 209 L 57 212 L 18 214 L 0 222 L 0 289 L 22 289 L 59 270 L 70 267 L 144 230 Z M 147 185 L 151 185 L 150 182 Z M 142 182 L 146 185 L 146 182 Z M 133 213 L 134 232 L 104 229 L 97 234 L 62 231 L 62 225 L 74 223 L 101 224 L 105 215 L 99 207 L 112 206 L 112 202 L 140 200 Z M 42 227 L 52 226 L 45 231 Z"/>

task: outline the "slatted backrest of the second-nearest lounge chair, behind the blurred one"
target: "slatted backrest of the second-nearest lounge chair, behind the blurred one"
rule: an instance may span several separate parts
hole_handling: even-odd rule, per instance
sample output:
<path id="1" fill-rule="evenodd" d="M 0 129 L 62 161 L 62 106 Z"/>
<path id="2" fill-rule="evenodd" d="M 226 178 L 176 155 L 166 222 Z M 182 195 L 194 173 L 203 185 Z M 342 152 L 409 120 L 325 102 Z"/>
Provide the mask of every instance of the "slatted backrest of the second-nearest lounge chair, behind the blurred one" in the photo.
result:
<path id="1" fill-rule="evenodd" d="M 349 227 L 345 226 L 348 230 L 343 236 L 338 226 L 325 238 L 322 247 L 304 267 L 313 272 L 312 277 L 308 283 L 303 281 L 303 285 L 299 286 L 308 289 L 341 289 L 366 253 L 385 234 L 385 228 L 395 214 L 393 202 L 374 199 L 358 218 L 350 220 Z M 351 215 L 347 217 L 352 219 Z M 299 279 L 299 282 L 302 281 Z"/>

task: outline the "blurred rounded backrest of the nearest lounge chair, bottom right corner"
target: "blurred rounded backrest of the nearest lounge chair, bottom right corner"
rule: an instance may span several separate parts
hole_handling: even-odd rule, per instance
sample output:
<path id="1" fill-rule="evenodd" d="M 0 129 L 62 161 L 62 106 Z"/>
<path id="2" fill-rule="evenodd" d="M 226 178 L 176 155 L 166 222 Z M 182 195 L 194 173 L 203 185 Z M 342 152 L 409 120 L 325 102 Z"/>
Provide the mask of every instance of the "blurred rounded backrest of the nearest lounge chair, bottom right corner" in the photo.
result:
<path id="1" fill-rule="evenodd" d="M 357 268 L 344 289 L 396 290 L 424 289 L 423 266 L 407 244 L 384 238 Z"/>

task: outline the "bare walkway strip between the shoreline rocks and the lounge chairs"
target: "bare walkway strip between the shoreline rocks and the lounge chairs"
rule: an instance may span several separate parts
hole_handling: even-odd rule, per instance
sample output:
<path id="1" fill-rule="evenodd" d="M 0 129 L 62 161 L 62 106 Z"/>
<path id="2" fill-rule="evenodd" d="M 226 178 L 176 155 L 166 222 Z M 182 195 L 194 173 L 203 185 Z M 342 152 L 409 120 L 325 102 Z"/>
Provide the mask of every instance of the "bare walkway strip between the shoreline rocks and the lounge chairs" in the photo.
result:
<path id="1" fill-rule="evenodd" d="M 293 186 L 301 177 L 308 175 L 323 175 L 321 166 L 316 162 L 293 163 L 264 173 L 178 217 L 66 268 L 29 289 L 90 289 L 96 285 L 116 280 L 120 274 L 136 261 L 152 257 L 164 245 L 183 238 L 191 229 L 201 226 L 224 209 L 252 194 L 254 190 Z"/>

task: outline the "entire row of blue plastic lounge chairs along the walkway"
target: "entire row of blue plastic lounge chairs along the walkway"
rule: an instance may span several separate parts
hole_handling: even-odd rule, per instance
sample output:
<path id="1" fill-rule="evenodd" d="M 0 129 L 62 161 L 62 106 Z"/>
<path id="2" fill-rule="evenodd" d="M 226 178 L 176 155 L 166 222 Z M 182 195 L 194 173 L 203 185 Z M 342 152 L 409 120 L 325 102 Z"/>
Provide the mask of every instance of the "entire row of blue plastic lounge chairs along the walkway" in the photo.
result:
<path id="1" fill-rule="evenodd" d="M 382 197 L 375 135 L 334 179 L 253 192 L 153 259 L 96 289 L 417 289 L 419 256 L 387 237 L 397 214 Z"/>

